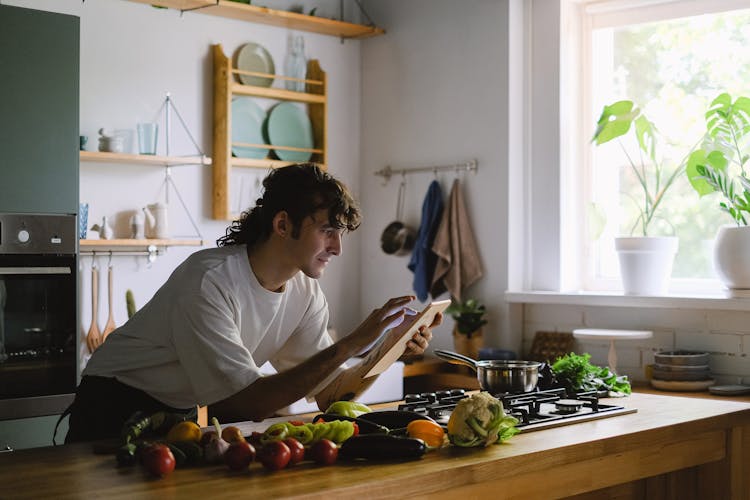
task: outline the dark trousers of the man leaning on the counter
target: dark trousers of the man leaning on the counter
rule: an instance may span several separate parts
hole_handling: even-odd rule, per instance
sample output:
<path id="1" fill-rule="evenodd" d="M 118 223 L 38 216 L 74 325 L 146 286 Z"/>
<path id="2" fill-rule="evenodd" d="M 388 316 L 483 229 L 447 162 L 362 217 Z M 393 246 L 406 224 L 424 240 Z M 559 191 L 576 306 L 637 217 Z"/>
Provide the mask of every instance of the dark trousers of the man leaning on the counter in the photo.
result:
<path id="1" fill-rule="evenodd" d="M 157 411 L 188 413 L 191 410 L 167 406 L 114 378 L 85 376 L 76 390 L 73 404 L 66 410 L 70 420 L 65 442 L 118 438 L 123 424 L 136 411 L 151 415 Z"/>

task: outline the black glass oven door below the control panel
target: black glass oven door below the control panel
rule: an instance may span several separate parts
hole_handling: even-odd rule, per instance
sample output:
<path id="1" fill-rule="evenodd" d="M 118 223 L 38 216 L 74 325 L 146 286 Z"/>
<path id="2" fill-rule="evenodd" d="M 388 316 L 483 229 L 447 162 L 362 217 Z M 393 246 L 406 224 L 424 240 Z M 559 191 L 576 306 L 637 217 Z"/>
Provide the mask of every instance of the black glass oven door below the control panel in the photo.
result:
<path id="1" fill-rule="evenodd" d="M 76 280 L 75 255 L 0 255 L 0 419 L 72 401 Z"/>

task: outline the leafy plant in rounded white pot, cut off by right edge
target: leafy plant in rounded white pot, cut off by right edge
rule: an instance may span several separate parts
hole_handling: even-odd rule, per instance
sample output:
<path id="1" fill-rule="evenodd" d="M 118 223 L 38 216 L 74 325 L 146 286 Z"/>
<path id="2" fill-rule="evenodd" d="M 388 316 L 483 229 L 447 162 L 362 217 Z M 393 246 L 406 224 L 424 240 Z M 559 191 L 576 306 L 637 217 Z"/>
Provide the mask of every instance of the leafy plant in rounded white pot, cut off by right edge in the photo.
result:
<path id="1" fill-rule="evenodd" d="M 719 228 L 714 243 L 714 267 L 732 291 L 750 289 L 750 98 L 722 93 L 706 111 L 703 144 L 688 160 L 690 184 L 700 196 L 719 193 L 719 208 L 734 225 Z M 744 295 L 744 294 L 743 294 Z"/>

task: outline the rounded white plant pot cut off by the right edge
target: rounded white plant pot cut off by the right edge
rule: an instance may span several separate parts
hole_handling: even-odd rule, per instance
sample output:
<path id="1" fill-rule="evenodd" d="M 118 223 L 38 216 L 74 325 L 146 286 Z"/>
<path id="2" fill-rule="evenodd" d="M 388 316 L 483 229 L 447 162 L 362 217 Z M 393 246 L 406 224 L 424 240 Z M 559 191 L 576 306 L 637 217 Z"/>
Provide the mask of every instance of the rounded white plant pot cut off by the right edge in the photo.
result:
<path id="1" fill-rule="evenodd" d="M 750 291 L 750 227 L 724 226 L 714 242 L 714 268 L 733 295 Z"/>

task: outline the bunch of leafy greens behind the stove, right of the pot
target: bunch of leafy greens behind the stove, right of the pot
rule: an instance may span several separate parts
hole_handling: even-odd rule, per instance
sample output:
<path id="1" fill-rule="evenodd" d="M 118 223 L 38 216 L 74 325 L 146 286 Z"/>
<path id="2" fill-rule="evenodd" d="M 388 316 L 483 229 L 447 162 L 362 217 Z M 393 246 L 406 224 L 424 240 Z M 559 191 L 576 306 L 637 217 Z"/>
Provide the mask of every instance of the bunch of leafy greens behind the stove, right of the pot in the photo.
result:
<path id="1" fill-rule="evenodd" d="M 557 358 L 552 372 L 558 383 L 569 392 L 607 391 L 610 396 L 626 396 L 631 393 L 627 375 L 617 375 L 608 367 L 599 367 L 589 361 L 591 354 L 571 352 Z"/>

